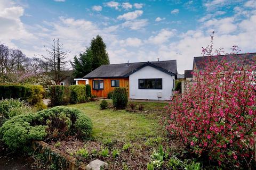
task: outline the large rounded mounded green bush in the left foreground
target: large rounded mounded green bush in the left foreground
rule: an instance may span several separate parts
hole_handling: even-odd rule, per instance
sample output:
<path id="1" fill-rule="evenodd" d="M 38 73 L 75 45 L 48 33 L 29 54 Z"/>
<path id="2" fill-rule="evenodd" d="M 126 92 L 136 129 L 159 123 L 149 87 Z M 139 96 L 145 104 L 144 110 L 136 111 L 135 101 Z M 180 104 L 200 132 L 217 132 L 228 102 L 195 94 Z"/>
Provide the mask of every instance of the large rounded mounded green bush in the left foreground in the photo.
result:
<path id="1" fill-rule="evenodd" d="M 61 135 L 89 138 L 92 121 L 75 108 L 63 106 L 44 109 L 33 114 L 22 114 L 6 121 L 0 128 L 0 137 L 10 149 L 25 149 L 33 140 Z"/>

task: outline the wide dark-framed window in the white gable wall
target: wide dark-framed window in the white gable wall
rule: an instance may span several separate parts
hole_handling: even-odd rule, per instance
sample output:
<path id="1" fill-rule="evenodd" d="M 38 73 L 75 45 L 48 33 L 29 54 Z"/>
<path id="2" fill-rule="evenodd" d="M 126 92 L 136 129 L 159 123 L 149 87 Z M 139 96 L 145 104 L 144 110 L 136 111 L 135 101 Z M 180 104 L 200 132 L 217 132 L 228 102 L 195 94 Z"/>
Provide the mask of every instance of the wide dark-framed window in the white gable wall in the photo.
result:
<path id="1" fill-rule="evenodd" d="M 139 79 L 139 89 L 163 89 L 163 80 Z"/>

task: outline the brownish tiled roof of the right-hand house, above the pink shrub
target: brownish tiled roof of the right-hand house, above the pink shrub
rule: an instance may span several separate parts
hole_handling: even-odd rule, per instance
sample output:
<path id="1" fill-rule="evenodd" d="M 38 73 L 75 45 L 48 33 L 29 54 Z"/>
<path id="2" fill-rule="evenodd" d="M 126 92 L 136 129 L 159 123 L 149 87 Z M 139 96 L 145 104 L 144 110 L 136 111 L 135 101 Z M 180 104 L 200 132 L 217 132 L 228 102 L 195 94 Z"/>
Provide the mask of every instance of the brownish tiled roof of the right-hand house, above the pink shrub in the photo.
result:
<path id="1" fill-rule="evenodd" d="M 196 64 L 197 70 L 204 70 L 205 65 L 209 61 L 210 57 L 194 57 L 194 64 Z M 226 60 L 228 63 L 236 63 L 239 66 L 251 65 L 252 61 L 256 60 L 256 53 L 244 53 L 244 54 L 227 54 L 227 55 L 218 55 L 211 56 L 211 60 L 218 61 L 220 63 L 223 60 Z"/>

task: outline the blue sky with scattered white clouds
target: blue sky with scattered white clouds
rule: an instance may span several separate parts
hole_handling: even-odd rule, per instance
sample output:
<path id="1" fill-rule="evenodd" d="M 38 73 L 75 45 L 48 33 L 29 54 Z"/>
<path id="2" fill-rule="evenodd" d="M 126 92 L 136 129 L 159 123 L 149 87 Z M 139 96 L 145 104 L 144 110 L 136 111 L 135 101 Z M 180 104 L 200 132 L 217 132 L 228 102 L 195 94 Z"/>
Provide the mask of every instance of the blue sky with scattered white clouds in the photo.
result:
<path id="1" fill-rule="evenodd" d="M 215 31 L 214 48 L 256 52 L 256 0 L 0 0 L 0 43 L 27 57 L 59 38 L 68 60 L 100 35 L 110 64 L 177 60 L 191 70 Z"/>

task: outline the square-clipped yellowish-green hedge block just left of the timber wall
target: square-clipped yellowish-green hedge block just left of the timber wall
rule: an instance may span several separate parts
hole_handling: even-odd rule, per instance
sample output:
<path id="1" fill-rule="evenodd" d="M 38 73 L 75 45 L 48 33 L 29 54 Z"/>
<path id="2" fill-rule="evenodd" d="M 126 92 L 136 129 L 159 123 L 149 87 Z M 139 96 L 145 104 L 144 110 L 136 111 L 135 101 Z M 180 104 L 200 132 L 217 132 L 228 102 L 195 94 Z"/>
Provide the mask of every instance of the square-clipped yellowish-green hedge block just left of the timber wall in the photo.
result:
<path id="1" fill-rule="evenodd" d="M 70 103 L 76 104 L 76 103 L 84 103 L 89 101 L 89 99 L 86 96 L 86 86 L 84 85 L 73 85 L 69 86 L 70 89 Z"/>

